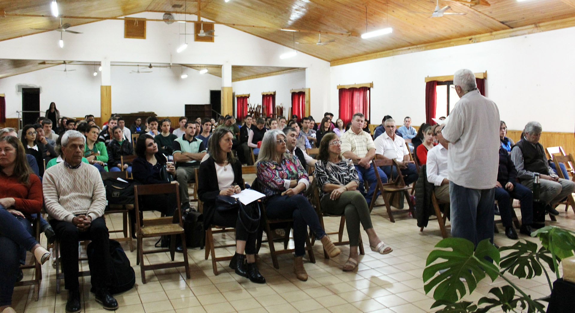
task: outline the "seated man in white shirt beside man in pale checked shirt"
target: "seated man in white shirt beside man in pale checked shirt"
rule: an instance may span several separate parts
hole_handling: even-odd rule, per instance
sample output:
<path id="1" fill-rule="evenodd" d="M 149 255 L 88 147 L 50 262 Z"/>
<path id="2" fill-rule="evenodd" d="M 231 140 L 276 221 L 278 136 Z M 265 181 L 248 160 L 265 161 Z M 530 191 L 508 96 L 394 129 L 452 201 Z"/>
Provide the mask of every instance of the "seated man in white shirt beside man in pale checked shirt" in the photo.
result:
<path id="1" fill-rule="evenodd" d="M 404 175 L 404 181 L 406 185 L 409 185 L 417 180 L 419 175 L 417 174 L 417 168 L 415 164 L 410 162 L 411 157 L 409 156 L 409 148 L 405 144 L 404 138 L 397 136 L 395 133 L 396 126 L 393 119 L 388 119 L 385 121 L 385 133 L 381 134 L 379 137 L 375 138 L 373 144 L 375 146 L 375 156 L 381 160 L 396 160 L 397 165 L 401 170 L 401 175 Z M 387 177 L 397 177 L 397 169 L 392 165 L 382 167 Z M 382 181 L 384 177 L 381 177 Z"/>

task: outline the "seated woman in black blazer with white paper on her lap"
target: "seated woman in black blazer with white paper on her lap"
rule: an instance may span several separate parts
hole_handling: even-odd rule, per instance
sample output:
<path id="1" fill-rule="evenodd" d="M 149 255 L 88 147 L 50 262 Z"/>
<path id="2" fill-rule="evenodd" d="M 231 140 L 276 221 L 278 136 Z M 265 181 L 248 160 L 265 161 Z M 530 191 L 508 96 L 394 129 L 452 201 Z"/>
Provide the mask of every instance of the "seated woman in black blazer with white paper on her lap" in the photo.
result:
<path id="1" fill-rule="evenodd" d="M 237 210 L 219 211 L 216 208 L 218 195 L 231 196 L 244 189 L 241 163 L 232 153 L 232 138 L 229 129 L 218 128 L 210 141 L 210 153 L 200 164 L 198 179 L 203 183 L 198 186 L 198 197 L 204 202 L 204 227 L 207 229 L 212 224 L 235 227 L 236 253 L 229 262 L 229 267 L 234 269 L 237 275 L 263 284 L 266 279 L 255 264 L 257 232 L 246 229 Z M 244 206 L 244 209 L 251 215 L 251 205 Z M 244 260 L 247 261 L 246 264 Z"/>

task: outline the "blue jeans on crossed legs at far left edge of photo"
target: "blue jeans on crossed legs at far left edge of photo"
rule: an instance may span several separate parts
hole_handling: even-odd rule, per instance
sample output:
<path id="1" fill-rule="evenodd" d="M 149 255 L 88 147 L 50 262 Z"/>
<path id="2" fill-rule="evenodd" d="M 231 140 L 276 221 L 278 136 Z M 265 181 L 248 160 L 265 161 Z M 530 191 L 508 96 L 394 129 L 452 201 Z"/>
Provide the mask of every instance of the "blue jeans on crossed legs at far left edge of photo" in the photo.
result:
<path id="1" fill-rule="evenodd" d="M 30 250 L 38 242 L 32 237 L 30 222 L 22 217 L 15 217 L 0 206 L 0 306 L 12 303 L 12 293 L 22 254 Z"/>

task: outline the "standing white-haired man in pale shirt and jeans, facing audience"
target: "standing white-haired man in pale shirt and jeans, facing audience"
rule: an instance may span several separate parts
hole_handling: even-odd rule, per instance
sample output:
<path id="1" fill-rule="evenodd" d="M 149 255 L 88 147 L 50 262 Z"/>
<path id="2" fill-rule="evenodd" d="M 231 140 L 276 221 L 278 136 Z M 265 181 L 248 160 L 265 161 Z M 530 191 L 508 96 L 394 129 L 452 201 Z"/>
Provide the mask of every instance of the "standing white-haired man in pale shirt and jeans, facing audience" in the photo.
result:
<path id="1" fill-rule="evenodd" d="M 475 75 L 460 69 L 453 77 L 459 101 L 440 140 L 448 142 L 451 235 L 476 246 L 493 242 L 494 188 L 499 164 L 499 109 L 477 90 Z M 443 142 L 445 143 L 445 142 Z"/>

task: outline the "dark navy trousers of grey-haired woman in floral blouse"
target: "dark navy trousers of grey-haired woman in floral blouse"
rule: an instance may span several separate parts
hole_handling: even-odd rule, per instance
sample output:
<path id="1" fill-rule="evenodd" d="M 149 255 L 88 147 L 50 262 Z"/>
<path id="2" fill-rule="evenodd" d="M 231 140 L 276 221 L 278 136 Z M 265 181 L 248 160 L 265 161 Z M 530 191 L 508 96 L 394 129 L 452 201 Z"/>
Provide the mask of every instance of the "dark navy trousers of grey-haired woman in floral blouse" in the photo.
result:
<path id="1" fill-rule="evenodd" d="M 275 195 L 266 202 L 266 215 L 269 218 L 293 218 L 293 241 L 296 257 L 305 254 L 305 239 L 309 229 L 316 234 L 316 238 L 324 237 L 325 231 L 321 228 L 317 213 L 304 195 L 293 196 Z"/>

